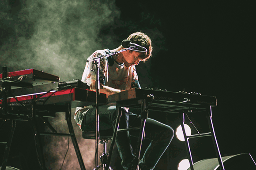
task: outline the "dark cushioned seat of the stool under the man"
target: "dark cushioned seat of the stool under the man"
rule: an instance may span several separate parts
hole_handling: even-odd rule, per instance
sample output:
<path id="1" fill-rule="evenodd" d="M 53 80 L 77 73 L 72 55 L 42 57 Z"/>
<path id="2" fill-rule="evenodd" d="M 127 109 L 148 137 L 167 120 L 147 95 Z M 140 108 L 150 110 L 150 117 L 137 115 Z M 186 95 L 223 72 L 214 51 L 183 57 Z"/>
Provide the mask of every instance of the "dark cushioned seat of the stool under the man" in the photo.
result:
<path id="1" fill-rule="evenodd" d="M 113 137 L 113 129 L 107 129 L 107 130 L 100 130 L 100 139 L 107 139 L 110 140 Z M 84 139 L 95 139 L 96 138 L 96 132 L 95 131 L 83 131 L 82 137 Z"/>

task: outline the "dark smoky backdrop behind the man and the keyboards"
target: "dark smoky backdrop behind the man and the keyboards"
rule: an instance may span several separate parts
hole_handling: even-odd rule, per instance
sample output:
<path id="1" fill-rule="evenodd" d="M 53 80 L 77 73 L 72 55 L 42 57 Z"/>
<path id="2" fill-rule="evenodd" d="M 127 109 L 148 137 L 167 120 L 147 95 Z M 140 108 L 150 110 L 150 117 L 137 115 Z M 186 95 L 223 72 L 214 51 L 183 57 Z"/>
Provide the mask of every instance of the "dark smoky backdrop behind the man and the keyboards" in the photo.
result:
<path id="1" fill-rule="evenodd" d="M 216 96 L 218 106 L 213 108 L 213 123 L 222 156 L 250 153 L 256 159 L 253 84 L 256 14 L 252 1 L 0 2 L 1 68 L 7 66 L 8 72 L 35 68 L 59 76 L 61 81 L 81 79 L 91 53 L 114 49 L 130 33 L 141 31 L 153 43 L 152 57 L 136 66 L 142 88 Z M 173 129 L 179 124 L 175 114 L 152 113 L 150 117 L 168 123 Z M 191 117 L 201 133 L 207 131 L 205 116 Z M 62 127 L 65 123 L 62 118 L 60 114 L 51 121 L 54 126 Z M 7 139 L 9 126 L 7 123 L 2 128 L 0 141 Z M 27 162 L 27 166 L 36 169 L 30 128 L 24 122 L 18 126 L 8 165 L 16 163 L 18 167 L 20 162 Z M 75 123 L 74 126 L 86 167 L 90 169 L 94 153 L 87 153 L 88 149 L 93 152 L 94 141 L 81 139 L 79 128 Z M 68 138 L 45 137 L 43 141 L 48 168 L 60 169 Z M 215 157 L 211 139 L 193 140 L 192 145 L 194 162 Z M 4 145 L 0 147 L 2 156 Z M 70 146 L 63 169 L 79 169 L 72 149 Z M 166 161 L 168 157 L 170 162 Z M 185 157 L 184 143 L 174 138 L 156 169 L 175 170 Z"/>

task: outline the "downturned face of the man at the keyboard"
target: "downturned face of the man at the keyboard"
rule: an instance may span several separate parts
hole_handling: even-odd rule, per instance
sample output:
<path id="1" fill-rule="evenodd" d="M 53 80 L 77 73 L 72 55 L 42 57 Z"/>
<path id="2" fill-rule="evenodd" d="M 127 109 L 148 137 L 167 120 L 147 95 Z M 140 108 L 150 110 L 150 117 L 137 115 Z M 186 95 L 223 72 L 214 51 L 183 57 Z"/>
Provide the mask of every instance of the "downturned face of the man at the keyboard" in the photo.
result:
<path id="1" fill-rule="evenodd" d="M 139 61 L 141 61 L 141 59 L 138 57 L 139 54 L 140 53 L 137 51 L 126 51 L 123 58 L 124 65 L 127 68 L 131 67 L 132 65 L 138 65 Z"/>

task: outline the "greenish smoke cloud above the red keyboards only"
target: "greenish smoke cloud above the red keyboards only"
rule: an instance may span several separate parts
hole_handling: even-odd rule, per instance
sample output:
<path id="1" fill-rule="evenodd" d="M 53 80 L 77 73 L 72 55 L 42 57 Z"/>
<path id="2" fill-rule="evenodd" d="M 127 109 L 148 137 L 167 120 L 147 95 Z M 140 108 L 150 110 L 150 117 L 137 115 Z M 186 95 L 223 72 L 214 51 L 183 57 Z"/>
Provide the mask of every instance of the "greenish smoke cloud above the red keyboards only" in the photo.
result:
<path id="1" fill-rule="evenodd" d="M 13 70 L 44 70 L 60 80 L 81 78 L 84 61 L 102 47 L 97 37 L 101 25 L 119 17 L 114 0 L 27 0 L 19 6 L 16 16 L 1 11 L 3 25 L 8 25 L 2 28 L 13 32 L 2 35 L 7 37 L 0 64 Z"/>

